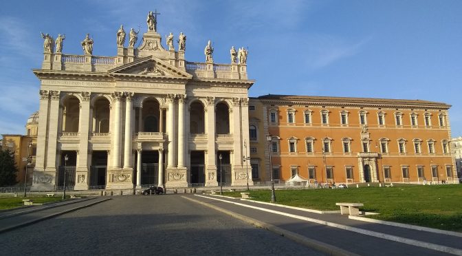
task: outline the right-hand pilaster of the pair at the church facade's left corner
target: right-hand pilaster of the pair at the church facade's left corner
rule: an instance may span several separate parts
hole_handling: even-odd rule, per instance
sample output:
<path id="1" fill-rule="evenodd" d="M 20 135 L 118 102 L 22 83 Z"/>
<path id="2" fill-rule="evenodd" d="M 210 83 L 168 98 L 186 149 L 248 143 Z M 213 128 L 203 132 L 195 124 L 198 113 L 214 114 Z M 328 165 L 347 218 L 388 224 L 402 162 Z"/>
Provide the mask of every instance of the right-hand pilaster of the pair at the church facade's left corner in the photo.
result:
<path id="1" fill-rule="evenodd" d="M 50 102 L 50 119 L 48 121 L 48 151 L 47 164 L 45 171 L 56 173 L 56 140 L 58 140 L 58 123 L 59 123 L 59 91 L 50 91 L 52 100 Z"/>

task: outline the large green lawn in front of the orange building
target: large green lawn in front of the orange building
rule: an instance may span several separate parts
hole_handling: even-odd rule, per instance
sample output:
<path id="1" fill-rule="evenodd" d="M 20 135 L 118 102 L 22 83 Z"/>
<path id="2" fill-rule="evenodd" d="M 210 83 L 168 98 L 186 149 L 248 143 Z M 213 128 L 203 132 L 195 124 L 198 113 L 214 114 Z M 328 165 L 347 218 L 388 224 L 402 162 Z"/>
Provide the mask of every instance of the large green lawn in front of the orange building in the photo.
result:
<path id="1" fill-rule="evenodd" d="M 239 191 L 225 195 L 241 197 Z M 271 191 L 250 191 L 254 200 L 270 202 Z M 462 232 L 462 185 L 360 187 L 350 189 L 276 190 L 278 204 L 338 210 L 336 202 L 361 202 L 367 217 Z"/>

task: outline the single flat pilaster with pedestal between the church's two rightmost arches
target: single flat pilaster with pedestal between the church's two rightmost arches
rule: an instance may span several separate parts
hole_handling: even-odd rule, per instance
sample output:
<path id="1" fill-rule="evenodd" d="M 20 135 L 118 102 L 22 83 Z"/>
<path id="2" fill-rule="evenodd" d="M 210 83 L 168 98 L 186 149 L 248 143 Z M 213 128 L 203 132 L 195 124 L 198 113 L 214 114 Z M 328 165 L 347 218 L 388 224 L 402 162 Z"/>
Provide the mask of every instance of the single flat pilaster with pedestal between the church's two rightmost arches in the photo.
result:
<path id="1" fill-rule="evenodd" d="M 218 186 L 215 149 L 215 98 L 207 97 L 207 167 L 206 186 Z"/>

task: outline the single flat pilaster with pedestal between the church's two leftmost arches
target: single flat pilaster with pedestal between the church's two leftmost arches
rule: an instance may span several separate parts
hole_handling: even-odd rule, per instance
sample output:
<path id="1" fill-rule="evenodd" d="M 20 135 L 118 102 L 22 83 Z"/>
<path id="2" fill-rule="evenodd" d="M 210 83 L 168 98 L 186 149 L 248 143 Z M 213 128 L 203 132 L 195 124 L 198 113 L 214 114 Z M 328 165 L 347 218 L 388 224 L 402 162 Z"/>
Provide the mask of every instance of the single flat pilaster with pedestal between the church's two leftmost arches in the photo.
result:
<path id="1" fill-rule="evenodd" d="M 78 147 L 78 162 L 76 169 L 76 190 L 88 189 L 88 136 L 89 136 L 89 122 L 90 122 L 90 93 L 82 92 L 82 101 L 80 102 L 80 127 L 78 132 L 80 134 L 80 145 Z"/>

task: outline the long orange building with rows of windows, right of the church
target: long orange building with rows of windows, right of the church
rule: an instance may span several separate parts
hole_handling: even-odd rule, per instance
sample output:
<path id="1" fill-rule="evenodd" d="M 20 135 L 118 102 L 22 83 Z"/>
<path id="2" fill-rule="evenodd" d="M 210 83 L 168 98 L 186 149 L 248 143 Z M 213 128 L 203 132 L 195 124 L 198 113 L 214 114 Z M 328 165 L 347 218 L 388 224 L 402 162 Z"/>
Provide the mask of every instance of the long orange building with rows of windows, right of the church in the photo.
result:
<path id="1" fill-rule="evenodd" d="M 249 104 L 254 182 L 452 183 L 450 105 L 426 100 L 267 95 Z M 271 135 L 270 146 L 267 134 Z"/>

